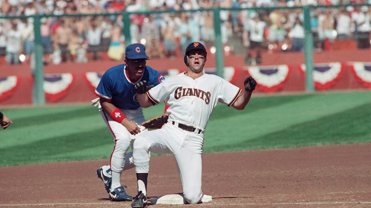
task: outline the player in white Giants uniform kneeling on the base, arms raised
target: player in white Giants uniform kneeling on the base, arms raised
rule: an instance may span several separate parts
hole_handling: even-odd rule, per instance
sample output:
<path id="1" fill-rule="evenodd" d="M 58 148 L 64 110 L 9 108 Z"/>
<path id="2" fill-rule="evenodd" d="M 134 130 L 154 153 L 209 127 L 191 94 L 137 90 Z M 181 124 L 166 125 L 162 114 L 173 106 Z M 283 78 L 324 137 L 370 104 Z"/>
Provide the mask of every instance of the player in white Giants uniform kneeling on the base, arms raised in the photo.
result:
<path id="1" fill-rule="evenodd" d="M 225 79 L 203 73 L 206 49 L 199 42 L 192 42 L 185 51 L 187 71 L 169 77 L 166 81 L 147 90 L 141 83 L 135 85 L 142 107 L 168 101 L 168 123 L 161 129 L 143 132 L 134 141 L 133 159 L 138 180 L 138 195 L 133 208 L 147 205 L 147 177 L 149 152 L 174 155 L 187 203 L 200 203 L 202 175 L 202 146 L 204 131 L 213 108 L 218 102 L 244 109 L 251 98 L 256 81 L 250 76 L 241 90 Z"/>

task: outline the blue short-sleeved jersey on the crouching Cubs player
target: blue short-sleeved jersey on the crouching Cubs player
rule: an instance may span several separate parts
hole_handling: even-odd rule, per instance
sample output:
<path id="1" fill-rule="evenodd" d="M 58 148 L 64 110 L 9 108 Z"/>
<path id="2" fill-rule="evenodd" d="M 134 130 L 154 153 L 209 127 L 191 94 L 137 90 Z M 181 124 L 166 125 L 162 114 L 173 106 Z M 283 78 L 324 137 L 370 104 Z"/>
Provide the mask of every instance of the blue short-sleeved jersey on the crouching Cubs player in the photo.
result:
<path id="1" fill-rule="evenodd" d="M 147 85 L 158 85 L 164 80 L 158 71 L 145 66 L 143 76 L 138 80 L 147 81 Z M 95 94 L 104 98 L 118 108 L 134 110 L 140 107 L 134 85 L 131 82 L 126 65 L 121 64 L 108 69 L 99 81 Z"/>

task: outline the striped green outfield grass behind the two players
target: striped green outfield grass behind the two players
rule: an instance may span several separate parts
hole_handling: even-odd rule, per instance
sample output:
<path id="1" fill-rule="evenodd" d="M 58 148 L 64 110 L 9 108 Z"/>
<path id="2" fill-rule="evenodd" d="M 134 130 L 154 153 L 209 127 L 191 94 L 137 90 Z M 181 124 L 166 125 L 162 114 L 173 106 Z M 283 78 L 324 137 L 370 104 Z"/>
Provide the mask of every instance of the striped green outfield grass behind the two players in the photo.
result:
<path id="1" fill-rule="evenodd" d="M 147 119 L 163 104 L 145 108 Z M 96 107 L 70 105 L 2 110 L 0 166 L 107 159 L 113 139 Z M 218 104 L 204 152 L 371 142 L 371 91 L 253 96 L 243 111 Z"/>

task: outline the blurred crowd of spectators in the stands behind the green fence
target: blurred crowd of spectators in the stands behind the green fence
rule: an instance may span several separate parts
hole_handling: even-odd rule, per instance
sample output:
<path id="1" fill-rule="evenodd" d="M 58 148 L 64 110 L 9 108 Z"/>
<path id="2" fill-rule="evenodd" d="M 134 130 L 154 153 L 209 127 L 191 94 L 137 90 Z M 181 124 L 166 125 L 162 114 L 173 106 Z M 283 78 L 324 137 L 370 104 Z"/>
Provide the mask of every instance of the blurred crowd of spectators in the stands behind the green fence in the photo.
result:
<path id="1" fill-rule="evenodd" d="M 247 8 L 221 10 L 223 44 L 239 38 L 249 64 L 261 63 L 262 50 L 304 49 L 301 8 L 262 9 L 301 5 L 365 4 L 371 0 L 0 0 L 0 16 L 34 14 L 94 14 L 122 11 L 190 10 L 200 8 Z M 251 9 L 249 9 L 251 8 Z M 257 9 L 260 8 L 260 9 Z M 214 44 L 212 11 L 131 14 L 131 42 L 146 45 L 151 58 L 183 56 L 193 41 L 208 48 Z M 34 19 L 0 18 L 0 56 L 19 64 L 19 55 L 30 61 L 35 50 Z M 370 48 L 371 6 L 319 7 L 311 10 L 314 48 L 326 49 L 334 39 L 354 39 L 358 48 Z M 122 60 L 125 36 L 121 14 L 110 16 L 43 17 L 41 35 L 45 63 Z M 49 56 L 50 54 L 50 56 Z"/>

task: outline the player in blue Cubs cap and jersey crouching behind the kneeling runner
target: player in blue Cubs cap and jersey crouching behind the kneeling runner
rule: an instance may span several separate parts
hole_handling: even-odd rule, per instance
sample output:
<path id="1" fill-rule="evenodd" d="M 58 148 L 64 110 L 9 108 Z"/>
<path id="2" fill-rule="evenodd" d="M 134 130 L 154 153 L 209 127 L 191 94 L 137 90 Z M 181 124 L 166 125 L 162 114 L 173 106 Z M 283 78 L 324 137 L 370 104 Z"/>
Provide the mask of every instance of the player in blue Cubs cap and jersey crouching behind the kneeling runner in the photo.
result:
<path id="1" fill-rule="evenodd" d="M 129 45 L 125 50 L 125 64 L 108 69 L 95 89 L 99 97 L 99 111 L 115 142 L 110 166 L 96 171 L 112 201 L 133 199 L 125 192 L 126 186 L 120 183 L 121 173 L 134 167 L 132 152 L 127 154 L 133 147 L 134 136 L 147 131 L 140 127 L 145 119 L 134 85 L 141 81 L 155 86 L 164 80 L 158 71 L 146 66 L 148 59 L 144 45 Z"/>

